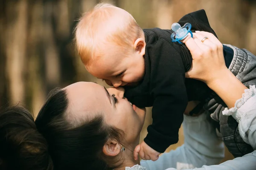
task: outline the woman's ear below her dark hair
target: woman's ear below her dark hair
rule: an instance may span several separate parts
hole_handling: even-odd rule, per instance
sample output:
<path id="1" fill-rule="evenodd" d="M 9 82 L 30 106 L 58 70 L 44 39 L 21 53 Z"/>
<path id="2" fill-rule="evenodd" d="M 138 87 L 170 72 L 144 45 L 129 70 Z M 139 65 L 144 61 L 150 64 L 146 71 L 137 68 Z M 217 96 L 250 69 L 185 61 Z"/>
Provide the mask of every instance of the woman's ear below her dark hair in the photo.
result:
<path id="1" fill-rule="evenodd" d="M 103 147 L 106 156 L 116 156 L 121 152 L 121 144 L 114 140 L 109 140 Z"/>

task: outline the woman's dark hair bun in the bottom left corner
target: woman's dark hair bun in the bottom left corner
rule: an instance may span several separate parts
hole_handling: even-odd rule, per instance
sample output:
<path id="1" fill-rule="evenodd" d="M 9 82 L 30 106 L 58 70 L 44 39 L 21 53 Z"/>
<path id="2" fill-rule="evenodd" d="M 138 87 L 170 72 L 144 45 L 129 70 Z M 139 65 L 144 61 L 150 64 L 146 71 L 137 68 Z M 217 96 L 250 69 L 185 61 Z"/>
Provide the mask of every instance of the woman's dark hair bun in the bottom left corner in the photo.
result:
<path id="1" fill-rule="evenodd" d="M 45 138 L 28 110 L 12 106 L 0 112 L 0 169 L 52 170 Z"/>

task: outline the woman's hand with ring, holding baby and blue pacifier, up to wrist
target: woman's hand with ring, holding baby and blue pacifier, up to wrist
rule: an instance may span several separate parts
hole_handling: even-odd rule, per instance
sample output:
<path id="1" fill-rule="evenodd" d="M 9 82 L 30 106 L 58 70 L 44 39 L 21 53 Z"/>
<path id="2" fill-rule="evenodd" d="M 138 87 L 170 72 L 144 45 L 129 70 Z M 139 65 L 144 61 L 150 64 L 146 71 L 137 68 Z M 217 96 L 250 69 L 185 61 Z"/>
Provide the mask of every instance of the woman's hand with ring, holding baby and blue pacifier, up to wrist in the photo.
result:
<path id="1" fill-rule="evenodd" d="M 207 37 L 203 42 L 201 40 Z M 192 67 L 186 73 L 187 78 L 198 79 L 210 84 L 230 72 L 223 56 L 222 43 L 211 33 L 196 31 L 183 41 L 192 54 Z"/>

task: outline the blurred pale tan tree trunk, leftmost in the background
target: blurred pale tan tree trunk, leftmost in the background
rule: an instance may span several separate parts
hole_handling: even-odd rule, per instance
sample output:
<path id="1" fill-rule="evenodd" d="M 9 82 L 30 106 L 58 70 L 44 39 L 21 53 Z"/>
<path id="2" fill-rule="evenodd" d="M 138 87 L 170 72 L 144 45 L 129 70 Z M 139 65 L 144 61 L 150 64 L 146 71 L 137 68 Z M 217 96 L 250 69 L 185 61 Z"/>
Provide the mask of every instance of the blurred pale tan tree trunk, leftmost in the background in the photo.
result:
<path id="1" fill-rule="evenodd" d="M 6 3 L 6 78 L 10 102 L 24 102 L 27 38 L 27 0 Z"/>

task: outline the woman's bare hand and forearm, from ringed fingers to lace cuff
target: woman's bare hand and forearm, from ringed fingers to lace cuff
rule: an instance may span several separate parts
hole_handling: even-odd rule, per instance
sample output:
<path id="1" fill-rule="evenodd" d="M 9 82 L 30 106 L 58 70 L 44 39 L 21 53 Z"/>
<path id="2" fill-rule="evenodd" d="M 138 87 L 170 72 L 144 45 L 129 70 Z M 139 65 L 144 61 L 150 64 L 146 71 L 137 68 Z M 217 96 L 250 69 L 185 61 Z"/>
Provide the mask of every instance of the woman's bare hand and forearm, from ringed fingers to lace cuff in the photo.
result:
<path id="1" fill-rule="evenodd" d="M 213 34 L 200 31 L 194 37 L 184 40 L 193 58 L 192 68 L 186 77 L 205 82 L 229 108 L 233 108 L 247 87 L 227 69 L 223 45 Z M 208 39 L 201 42 L 204 37 Z"/>

